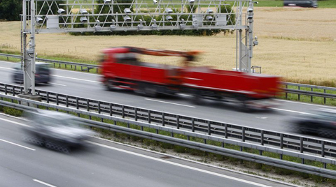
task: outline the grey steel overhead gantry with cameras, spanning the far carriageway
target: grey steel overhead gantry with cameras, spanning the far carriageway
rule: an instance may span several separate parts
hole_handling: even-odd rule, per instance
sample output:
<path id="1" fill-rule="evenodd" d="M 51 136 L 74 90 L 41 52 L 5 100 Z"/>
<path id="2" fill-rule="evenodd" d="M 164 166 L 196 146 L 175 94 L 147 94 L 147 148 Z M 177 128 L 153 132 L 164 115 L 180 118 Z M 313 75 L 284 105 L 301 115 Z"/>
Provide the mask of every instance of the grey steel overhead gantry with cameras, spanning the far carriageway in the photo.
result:
<path id="1" fill-rule="evenodd" d="M 100 3 L 99 3 L 100 2 Z M 236 31 L 236 68 L 251 72 L 252 0 L 23 0 L 24 92 L 35 95 L 35 34 L 160 30 Z M 29 42 L 27 43 L 27 36 Z"/>

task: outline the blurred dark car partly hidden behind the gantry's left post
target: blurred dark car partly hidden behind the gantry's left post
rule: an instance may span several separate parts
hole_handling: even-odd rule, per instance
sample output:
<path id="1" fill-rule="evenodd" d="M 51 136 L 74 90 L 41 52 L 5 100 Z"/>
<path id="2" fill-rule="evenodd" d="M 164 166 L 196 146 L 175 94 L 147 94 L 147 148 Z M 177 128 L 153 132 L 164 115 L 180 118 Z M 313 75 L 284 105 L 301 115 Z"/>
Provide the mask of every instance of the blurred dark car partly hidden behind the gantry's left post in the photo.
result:
<path id="1" fill-rule="evenodd" d="M 35 82 L 36 83 L 45 83 L 48 84 L 51 80 L 51 70 L 50 64 L 43 62 L 36 62 L 36 73 L 35 73 Z M 23 82 L 23 70 L 21 69 L 21 64 L 18 63 L 13 67 L 13 81 L 15 83 Z"/>

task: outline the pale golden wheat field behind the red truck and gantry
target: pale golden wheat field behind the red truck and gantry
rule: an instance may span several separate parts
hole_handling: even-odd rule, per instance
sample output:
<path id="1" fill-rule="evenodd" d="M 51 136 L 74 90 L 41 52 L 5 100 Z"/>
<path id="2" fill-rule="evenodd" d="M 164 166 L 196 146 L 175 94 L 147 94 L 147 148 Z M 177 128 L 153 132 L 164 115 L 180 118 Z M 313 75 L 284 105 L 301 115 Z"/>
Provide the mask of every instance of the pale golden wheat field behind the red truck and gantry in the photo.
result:
<path id="1" fill-rule="evenodd" d="M 310 84 L 336 83 L 335 8 L 255 8 L 253 66 L 262 73 Z M 201 50 L 195 62 L 224 70 L 235 68 L 235 35 L 224 36 L 71 36 L 36 35 L 36 52 L 49 57 L 97 61 L 106 47 L 137 46 L 167 50 Z M 0 22 L 0 50 L 20 51 L 20 22 Z M 146 61 L 179 64 L 172 57 Z"/>

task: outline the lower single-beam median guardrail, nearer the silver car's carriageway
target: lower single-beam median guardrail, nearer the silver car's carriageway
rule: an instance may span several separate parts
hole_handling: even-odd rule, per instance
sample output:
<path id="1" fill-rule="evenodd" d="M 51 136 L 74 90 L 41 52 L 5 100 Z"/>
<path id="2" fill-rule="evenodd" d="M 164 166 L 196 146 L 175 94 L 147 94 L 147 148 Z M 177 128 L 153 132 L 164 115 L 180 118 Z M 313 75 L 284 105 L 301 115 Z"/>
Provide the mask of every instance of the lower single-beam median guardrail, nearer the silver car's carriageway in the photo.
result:
<path id="1" fill-rule="evenodd" d="M 336 160 L 333 158 L 321 158 L 319 156 L 311 156 L 311 155 L 307 155 L 307 154 L 302 154 L 302 153 L 296 153 L 293 151 L 288 151 L 288 150 L 284 150 L 284 149 L 278 149 L 278 148 L 274 148 L 274 147 L 267 147 L 265 145 L 257 145 L 257 144 L 252 144 L 252 143 L 248 143 L 248 142 L 241 142 L 239 140 L 230 140 L 227 139 L 225 137 L 216 137 L 213 135 L 205 135 L 202 133 L 195 133 L 195 132 L 191 132 L 189 130 L 181 130 L 181 129 L 177 129 L 174 127 L 168 127 L 168 126 L 160 126 L 160 125 L 155 125 L 155 124 L 149 124 L 147 122 L 144 121 L 137 121 L 134 119 L 125 119 L 123 117 L 114 117 L 114 116 L 109 116 L 106 114 L 98 114 L 96 112 L 87 112 L 84 110 L 78 110 L 76 108 L 71 108 L 71 107 L 65 107 L 65 106 L 60 106 L 60 105 L 55 105 L 55 104 L 50 104 L 50 103 L 41 103 L 38 101 L 34 101 L 34 100 L 27 100 L 24 98 L 18 98 L 18 97 L 14 97 L 14 96 L 8 96 L 8 95 L 3 95 L 0 94 L 0 105 L 3 106 L 7 106 L 7 107 L 13 107 L 19 110 L 34 110 L 34 108 L 29 107 L 30 106 L 43 106 L 48 108 L 53 108 L 56 110 L 63 110 L 66 112 L 71 112 L 71 113 L 75 113 L 75 114 L 83 114 L 83 115 L 87 115 L 90 117 L 99 117 L 102 119 L 102 121 L 104 121 L 104 119 L 109 119 L 109 120 L 113 120 L 114 121 L 114 125 L 112 124 L 106 124 L 103 122 L 99 122 L 99 121 L 94 121 L 94 120 L 88 120 L 88 119 L 80 119 L 81 121 L 85 122 L 87 125 L 89 126 L 94 126 L 94 127 L 98 127 L 98 128 L 105 128 L 105 129 L 109 129 L 109 130 L 113 130 L 119 133 L 125 133 L 127 135 L 134 135 L 134 136 L 138 136 L 138 137 L 144 137 L 144 138 L 148 138 L 151 140 L 157 140 L 160 142 L 167 142 L 170 144 L 176 144 L 176 145 L 180 145 L 183 147 L 189 147 L 192 149 L 197 149 L 197 150 L 201 150 L 201 151 L 208 151 L 211 153 L 215 153 L 215 154 L 221 154 L 224 156 L 231 156 L 234 158 L 239 158 L 239 159 L 243 159 L 243 160 L 250 160 L 253 162 L 257 162 L 257 163 L 262 163 L 262 164 L 266 164 L 266 165 L 273 165 L 276 167 L 282 167 L 282 168 L 286 168 L 289 170 L 295 170 L 295 171 L 300 171 L 300 172 L 305 172 L 305 173 L 309 173 L 309 174 L 316 174 L 322 177 L 328 177 L 328 178 L 332 178 L 332 179 L 336 179 L 336 171 L 335 170 L 328 170 L 325 168 L 321 168 L 321 167 L 314 167 L 311 165 L 304 165 L 304 164 L 300 164 L 300 163 L 293 163 L 290 162 L 288 160 L 282 160 L 282 159 L 276 159 L 276 158 L 270 158 L 267 156 L 262 156 L 262 155 L 258 155 L 258 154 L 251 154 L 251 153 L 247 153 L 243 151 L 243 147 L 247 147 L 247 148 L 251 148 L 251 149 L 258 149 L 259 151 L 271 151 L 271 152 L 275 152 L 278 154 L 283 154 L 283 155 L 289 155 L 289 156 L 295 156 L 297 158 L 307 158 L 309 160 L 316 160 L 319 162 L 323 162 L 323 163 L 330 163 L 335 165 L 336 164 Z M 9 100 L 11 100 L 11 103 L 8 101 L 3 101 L 3 98 L 7 98 Z M 25 103 L 25 105 L 20 105 L 20 104 L 16 104 L 13 102 L 18 102 L 18 103 Z M 27 106 L 28 105 L 28 106 Z M 117 121 L 122 122 L 127 124 L 126 127 L 123 126 L 117 126 Z M 136 126 L 140 126 L 140 130 L 137 130 L 136 128 L 130 128 L 130 124 L 134 124 Z M 229 125 L 229 124 L 228 124 Z M 144 127 L 147 128 L 153 128 L 155 130 L 157 130 L 157 133 L 150 133 L 147 131 L 144 131 Z M 167 136 L 167 135 L 160 135 L 158 134 L 158 130 L 162 130 L 162 131 L 166 131 L 171 133 L 171 136 Z M 229 131 L 227 130 L 227 132 L 229 133 Z M 176 138 L 174 137 L 174 134 L 181 134 L 181 135 L 186 135 L 187 136 L 187 140 L 183 140 L 181 138 Z M 196 141 L 192 141 L 190 140 L 190 137 L 195 137 L 195 138 L 202 138 L 204 140 L 204 143 L 202 142 L 196 142 Z M 207 144 L 207 140 L 211 140 L 211 141 L 216 141 L 216 142 L 221 142 L 222 143 L 222 147 L 219 146 L 214 146 L 211 144 Z M 224 144 L 234 144 L 234 145 L 238 145 L 241 147 L 240 151 L 237 150 L 233 150 L 233 149 L 225 149 L 224 148 Z"/>

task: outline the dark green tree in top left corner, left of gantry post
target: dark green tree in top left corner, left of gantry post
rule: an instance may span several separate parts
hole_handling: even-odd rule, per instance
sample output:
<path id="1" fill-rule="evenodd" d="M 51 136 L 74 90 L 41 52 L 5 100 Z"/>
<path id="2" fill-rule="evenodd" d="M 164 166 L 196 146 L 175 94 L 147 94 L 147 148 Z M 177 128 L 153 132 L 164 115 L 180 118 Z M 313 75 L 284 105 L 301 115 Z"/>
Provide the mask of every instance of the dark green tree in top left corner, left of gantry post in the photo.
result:
<path id="1" fill-rule="evenodd" d="M 18 21 L 22 13 L 22 0 L 0 0 L 0 20 Z"/>

